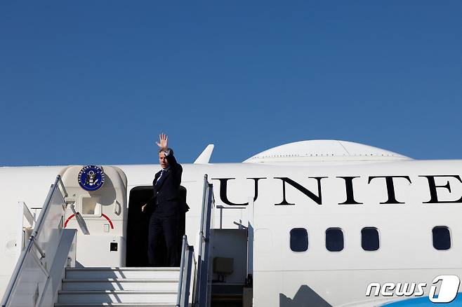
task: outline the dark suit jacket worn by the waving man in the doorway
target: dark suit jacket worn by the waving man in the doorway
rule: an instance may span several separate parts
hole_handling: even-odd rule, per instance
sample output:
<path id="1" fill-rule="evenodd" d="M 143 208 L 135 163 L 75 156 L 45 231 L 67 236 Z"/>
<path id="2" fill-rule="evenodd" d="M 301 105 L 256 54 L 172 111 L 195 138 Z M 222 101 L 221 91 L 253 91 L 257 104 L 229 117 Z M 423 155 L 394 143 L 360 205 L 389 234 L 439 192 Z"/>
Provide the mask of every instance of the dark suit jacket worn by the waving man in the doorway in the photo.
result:
<path id="1" fill-rule="evenodd" d="M 170 154 L 166 156 L 166 159 L 169 162 L 169 168 L 158 184 L 156 182 L 161 171 L 156 173 L 152 182 L 154 196 L 147 201 L 150 211 L 154 211 L 152 214 L 156 214 L 157 217 L 171 217 L 189 209 L 186 200 L 183 200 L 179 193 L 183 168 L 176 162 L 173 150 L 170 149 Z"/>

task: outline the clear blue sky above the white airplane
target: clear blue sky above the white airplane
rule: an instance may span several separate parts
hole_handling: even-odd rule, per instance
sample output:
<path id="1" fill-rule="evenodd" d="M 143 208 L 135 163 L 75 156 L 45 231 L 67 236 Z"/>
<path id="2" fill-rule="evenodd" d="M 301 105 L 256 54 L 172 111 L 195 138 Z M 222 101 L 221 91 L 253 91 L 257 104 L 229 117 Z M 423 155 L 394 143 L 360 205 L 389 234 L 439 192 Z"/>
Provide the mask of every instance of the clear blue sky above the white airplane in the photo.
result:
<path id="1" fill-rule="evenodd" d="M 0 165 L 462 158 L 461 1 L 0 1 Z"/>

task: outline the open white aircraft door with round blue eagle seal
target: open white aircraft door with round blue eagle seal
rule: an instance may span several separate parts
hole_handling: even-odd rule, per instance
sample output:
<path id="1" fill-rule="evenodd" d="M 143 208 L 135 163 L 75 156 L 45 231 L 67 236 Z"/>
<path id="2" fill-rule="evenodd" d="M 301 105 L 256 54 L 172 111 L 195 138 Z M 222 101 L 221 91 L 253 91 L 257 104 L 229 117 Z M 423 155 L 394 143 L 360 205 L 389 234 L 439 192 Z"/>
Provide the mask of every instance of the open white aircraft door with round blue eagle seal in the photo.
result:
<path id="1" fill-rule="evenodd" d="M 125 266 L 124 172 L 114 166 L 70 166 L 61 176 L 69 195 L 64 226 L 77 229 L 76 266 Z"/>

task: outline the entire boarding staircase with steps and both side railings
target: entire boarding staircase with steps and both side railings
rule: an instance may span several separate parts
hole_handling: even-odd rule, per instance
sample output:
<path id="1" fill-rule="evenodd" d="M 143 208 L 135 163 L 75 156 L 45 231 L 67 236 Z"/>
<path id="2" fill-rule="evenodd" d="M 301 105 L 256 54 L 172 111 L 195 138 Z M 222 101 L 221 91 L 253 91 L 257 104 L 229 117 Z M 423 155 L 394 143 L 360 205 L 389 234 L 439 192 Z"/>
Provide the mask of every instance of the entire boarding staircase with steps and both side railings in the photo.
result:
<path id="1" fill-rule="evenodd" d="M 210 306 L 209 239 L 213 185 L 204 175 L 199 248 L 183 236 L 180 267 L 75 267 L 75 229 L 62 227 L 67 191 L 60 175 L 51 186 L 32 235 L 24 244 L 0 307 Z M 28 219 L 34 219 L 24 204 Z M 58 222 L 51 223 L 58 219 Z M 42 234 L 43 233 L 43 234 Z"/>

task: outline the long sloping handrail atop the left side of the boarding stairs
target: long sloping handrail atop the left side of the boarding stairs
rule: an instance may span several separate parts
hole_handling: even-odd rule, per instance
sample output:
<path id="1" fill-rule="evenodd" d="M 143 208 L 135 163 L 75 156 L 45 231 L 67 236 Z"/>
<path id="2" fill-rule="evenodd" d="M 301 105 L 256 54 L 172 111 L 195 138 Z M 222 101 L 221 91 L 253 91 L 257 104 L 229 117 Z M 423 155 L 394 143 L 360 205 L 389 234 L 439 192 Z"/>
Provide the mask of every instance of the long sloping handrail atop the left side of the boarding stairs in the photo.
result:
<path id="1" fill-rule="evenodd" d="M 62 191 L 58 189 L 59 186 L 61 186 Z M 46 254 L 37 245 L 36 239 L 38 238 L 40 234 L 41 226 L 42 224 L 44 224 L 46 212 L 48 211 L 48 207 L 50 206 L 51 200 L 53 198 L 53 194 L 55 193 L 56 189 L 58 189 L 58 191 L 60 191 L 61 194 L 64 193 L 64 195 L 62 195 L 62 198 L 67 197 L 67 191 L 65 189 L 64 184 L 62 183 L 62 179 L 60 175 L 56 176 L 55 182 L 51 186 L 50 191 L 48 191 L 48 195 L 46 196 L 44 206 L 42 207 L 39 218 L 37 219 L 37 223 L 34 226 L 34 231 L 32 232 L 32 235 L 29 237 L 29 241 L 27 242 L 25 249 L 22 250 L 20 257 L 18 259 L 18 262 L 16 263 L 13 274 L 11 275 L 10 282 L 8 282 L 8 286 L 6 287 L 4 298 L 1 300 L 1 307 L 5 307 L 8 305 L 8 301 L 10 301 L 11 299 L 11 294 L 13 293 L 13 289 L 18 283 L 18 277 L 22 271 L 22 268 L 24 267 L 27 254 L 29 254 L 29 252 L 32 250 L 32 246 L 37 248 L 42 259 L 46 257 Z"/>

